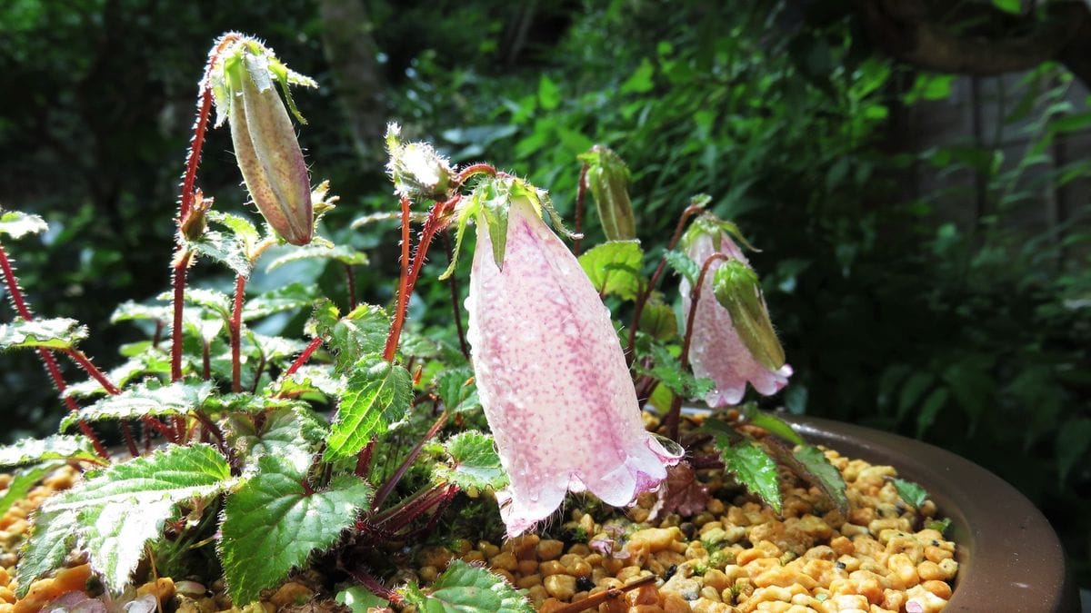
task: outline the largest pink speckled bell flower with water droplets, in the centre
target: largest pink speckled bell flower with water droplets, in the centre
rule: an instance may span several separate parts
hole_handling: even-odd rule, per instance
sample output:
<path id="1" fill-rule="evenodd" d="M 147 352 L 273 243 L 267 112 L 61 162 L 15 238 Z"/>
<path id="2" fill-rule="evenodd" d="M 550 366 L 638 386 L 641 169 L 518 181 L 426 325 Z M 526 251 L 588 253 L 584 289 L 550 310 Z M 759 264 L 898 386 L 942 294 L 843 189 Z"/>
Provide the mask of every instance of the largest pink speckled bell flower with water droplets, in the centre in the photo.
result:
<path id="1" fill-rule="evenodd" d="M 469 201 L 478 247 L 467 338 L 511 478 L 497 492 L 509 536 L 549 517 L 568 491 L 631 504 L 679 459 L 644 429 L 610 312 L 542 220 L 547 197 L 495 178 Z"/>

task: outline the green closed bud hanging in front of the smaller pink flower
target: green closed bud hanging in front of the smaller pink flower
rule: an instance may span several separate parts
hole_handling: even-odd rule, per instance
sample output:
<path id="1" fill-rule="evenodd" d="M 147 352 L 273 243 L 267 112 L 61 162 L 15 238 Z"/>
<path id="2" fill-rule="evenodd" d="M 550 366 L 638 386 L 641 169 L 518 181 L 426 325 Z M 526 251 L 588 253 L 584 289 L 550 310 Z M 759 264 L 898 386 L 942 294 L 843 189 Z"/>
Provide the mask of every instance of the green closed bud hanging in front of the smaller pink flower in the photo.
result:
<path id="1" fill-rule="evenodd" d="M 754 359 L 771 371 L 783 366 L 784 349 L 769 321 L 757 274 L 743 262 L 729 260 L 716 269 L 712 290 Z"/>

